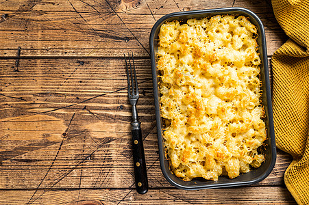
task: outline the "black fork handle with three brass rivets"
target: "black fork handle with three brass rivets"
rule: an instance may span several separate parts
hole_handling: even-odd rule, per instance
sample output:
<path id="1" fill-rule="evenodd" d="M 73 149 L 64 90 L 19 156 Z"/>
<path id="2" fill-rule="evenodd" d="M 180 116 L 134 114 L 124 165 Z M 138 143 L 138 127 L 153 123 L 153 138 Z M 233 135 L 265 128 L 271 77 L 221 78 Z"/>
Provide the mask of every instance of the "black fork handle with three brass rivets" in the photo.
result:
<path id="1" fill-rule="evenodd" d="M 142 131 L 140 122 L 134 121 L 132 124 L 132 141 L 133 141 L 133 161 L 136 191 L 140 194 L 147 193 L 148 179 L 145 161 L 145 152 L 143 146 Z"/>

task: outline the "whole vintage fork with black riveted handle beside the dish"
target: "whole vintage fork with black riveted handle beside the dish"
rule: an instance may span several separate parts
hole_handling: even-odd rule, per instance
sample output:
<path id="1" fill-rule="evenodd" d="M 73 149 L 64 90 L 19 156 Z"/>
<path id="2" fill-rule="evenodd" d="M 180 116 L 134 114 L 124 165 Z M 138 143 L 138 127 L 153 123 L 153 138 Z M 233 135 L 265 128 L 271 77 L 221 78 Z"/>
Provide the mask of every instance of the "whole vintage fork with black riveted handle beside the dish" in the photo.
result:
<path id="1" fill-rule="evenodd" d="M 130 59 L 130 55 L 128 53 L 128 59 L 129 63 L 127 63 L 127 58 L 125 57 L 125 68 L 127 70 L 127 95 L 129 97 L 129 102 L 132 105 L 131 126 L 132 126 L 135 186 L 136 191 L 138 193 L 144 194 L 147 193 L 148 191 L 148 180 L 147 180 L 147 169 L 146 169 L 142 131 L 140 129 L 140 122 L 138 121 L 138 114 L 136 110 L 136 104 L 138 101 L 138 83 L 136 79 L 133 53 L 132 53 L 132 60 Z"/>

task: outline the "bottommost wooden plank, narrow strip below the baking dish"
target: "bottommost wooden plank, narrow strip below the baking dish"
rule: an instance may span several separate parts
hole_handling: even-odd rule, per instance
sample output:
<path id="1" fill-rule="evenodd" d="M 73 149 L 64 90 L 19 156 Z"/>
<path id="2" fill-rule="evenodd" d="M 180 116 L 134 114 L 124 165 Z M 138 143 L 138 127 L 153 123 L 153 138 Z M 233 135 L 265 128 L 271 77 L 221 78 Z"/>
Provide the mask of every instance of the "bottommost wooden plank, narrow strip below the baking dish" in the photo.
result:
<path id="1" fill-rule="evenodd" d="M 0 191 L 0 204 L 296 204 L 283 187 L 235 189 L 150 189 L 145 195 L 134 189 Z"/>

